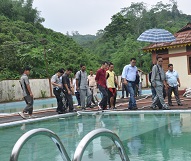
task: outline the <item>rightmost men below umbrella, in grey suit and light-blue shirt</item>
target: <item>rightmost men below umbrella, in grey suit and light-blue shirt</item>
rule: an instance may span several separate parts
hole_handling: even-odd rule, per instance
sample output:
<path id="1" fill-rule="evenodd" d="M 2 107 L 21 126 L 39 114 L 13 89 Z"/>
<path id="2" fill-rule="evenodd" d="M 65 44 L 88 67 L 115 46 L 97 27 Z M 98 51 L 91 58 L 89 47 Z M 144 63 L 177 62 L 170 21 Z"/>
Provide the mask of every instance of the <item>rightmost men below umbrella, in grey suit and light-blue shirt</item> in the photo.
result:
<path id="1" fill-rule="evenodd" d="M 152 91 L 152 109 L 169 110 L 172 104 L 172 92 L 175 95 L 178 106 L 183 104 L 180 101 L 178 87 L 180 87 L 180 79 L 178 73 L 173 69 L 173 64 L 168 64 L 168 71 L 165 73 L 162 67 L 163 58 L 157 57 L 157 64 L 152 67 L 150 75 L 151 91 Z M 168 105 L 164 99 L 168 95 Z"/>

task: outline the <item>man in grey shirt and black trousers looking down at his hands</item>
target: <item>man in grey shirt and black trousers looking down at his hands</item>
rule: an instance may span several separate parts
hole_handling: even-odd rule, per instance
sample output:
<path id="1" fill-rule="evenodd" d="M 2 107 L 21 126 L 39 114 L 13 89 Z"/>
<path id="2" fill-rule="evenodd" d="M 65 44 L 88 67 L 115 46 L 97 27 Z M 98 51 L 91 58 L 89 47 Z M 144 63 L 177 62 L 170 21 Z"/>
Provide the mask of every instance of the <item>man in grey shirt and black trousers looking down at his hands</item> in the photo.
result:
<path id="1" fill-rule="evenodd" d="M 57 109 L 56 112 L 58 114 L 63 114 L 64 109 L 63 109 L 63 102 L 62 102 L 62 97 L 61 97 L 61 91 L 62 91 L 62 82 L 61 82 L 61 76 L 64 74 L 64 71 L 62 69 L 59 69 L 55 75 L 52 76 L 51 78 L 51 84 L 53 87 L 53 93 L 56 97 L 57 100 Z"/>

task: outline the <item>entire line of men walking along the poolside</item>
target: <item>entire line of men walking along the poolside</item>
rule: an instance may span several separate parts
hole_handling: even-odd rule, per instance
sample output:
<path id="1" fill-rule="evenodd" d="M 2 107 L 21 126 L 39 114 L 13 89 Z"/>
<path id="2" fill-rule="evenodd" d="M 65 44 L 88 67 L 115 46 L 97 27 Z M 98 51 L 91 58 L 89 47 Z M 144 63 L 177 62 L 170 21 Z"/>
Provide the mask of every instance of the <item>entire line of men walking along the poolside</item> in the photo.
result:
<path id="1" fill-rule="evenodd" d="M 174 92 L 177 104 L 182 106 L 178 95 L 178 86 L 180 87 L 180 79 L 178 73 L 173 69 L 173 64 L 168 65 L 168 71 L 165 73 L 162 68 L 162 57 L 157 58 L 157 64 L 152 67 L 152 72 L 150 73 L 150 82 L 152 90 L 152 109 L 156 109 L 157 106 L 161 109 L 168 110 L 169 106 L 172 104 L 172 92 Z M 101 68 L 97 70 L 96 75 L 90 70 L 90 75 L 87 75 L 85 64 L 80 65 L 81 70 L 76 73 L 75 91 L 74 87 L 70 81 L 70 74 L 72 73 L 71 68 L 59 69 L 55 75 L 51 78 L 51 84 L 53 87 L 53 93 L 57 99 L 57 112 L 62 114 L 66 112 L 66 106 L 63 106 L 63 94 L 67 100 L 67 106 L 69 107 L 69 112 L 74 112 L 73 98 L 72 95 L 75 93 L 78 100 L 78 105 L 82 109 L 91 107 L 91 103 L 94 104 L 94 98 L 98 102 L 97 98 L 97 88 L 101 94 L 101 101 L 98 102 L 98 108 L 100 110 L 109 108 L 115 109 L 116 88 L 120 88 L 118 81 L 116 79 L 115 73 L 113 71 L 114 65 L 112 63 L 103 62 Z M 28 113 L 29 117 L 35 117 L 33 113 L 33 94 L 29 85 L 28 76 L 30 74 L 30 68 L 26 67 L 24 73 L 21 76 L 20 84 L 23 90 L 24 100 L 27 104 L 25 109 L 20 112 L 22 118 L 26 118 L 25 114 Z M 129 106 L 127 109 L 136 110 L 137 104 L 135 99 L 135 86 L 136 79 L 138 75 L 138 70 L 136 67 L 136 58 L 131 58 L 130 64 L 126 65 L 122 71 L 122 83 L 128 90 L 130 94 Z M 164 101 L 164 91 L 168 91 L 168 105 Z"/>

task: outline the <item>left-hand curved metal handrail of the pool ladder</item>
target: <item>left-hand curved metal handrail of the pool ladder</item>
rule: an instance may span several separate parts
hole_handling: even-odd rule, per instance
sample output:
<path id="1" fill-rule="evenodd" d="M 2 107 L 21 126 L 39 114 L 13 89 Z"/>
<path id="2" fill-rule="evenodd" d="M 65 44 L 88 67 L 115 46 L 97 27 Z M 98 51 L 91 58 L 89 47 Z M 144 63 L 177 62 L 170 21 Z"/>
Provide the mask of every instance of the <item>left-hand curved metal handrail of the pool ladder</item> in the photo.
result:
<path id="1" fill-rule="evenodd" d="M 60 141 L 60 138 L 54 132 L 52 132 L 51 130 L 45 129 L 45 128 L 33 129 L 33 130 L 26 132 L 24 135 L 22 135 L 13 147 L 13 150 L 12 150 L 12 153 L 10 156 L 10 161 L 18 161 L 19 153 L 20 153 L 22 147 L 24 146 L 24 144 L 29 139 L 31 139 L 32 137 L 34 137 L 36 135 L 45 135 L 45 136 L 50 137 L 52 139 L 52 141 L 58 147 L 58 149 L 61 153 L 62 159 L 64 161 L 71 161 L 62 142 Z"/>

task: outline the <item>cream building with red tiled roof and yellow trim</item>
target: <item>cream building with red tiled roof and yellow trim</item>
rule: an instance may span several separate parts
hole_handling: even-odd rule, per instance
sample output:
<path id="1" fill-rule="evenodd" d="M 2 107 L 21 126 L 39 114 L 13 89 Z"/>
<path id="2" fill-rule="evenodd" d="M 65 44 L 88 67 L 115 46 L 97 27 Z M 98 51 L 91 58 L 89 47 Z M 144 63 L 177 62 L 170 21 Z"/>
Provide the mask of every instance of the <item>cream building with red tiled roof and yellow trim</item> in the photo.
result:
<path id="1" fill-rule="evenodd" d="M 176 40 L 169 43 L 155 43 L 143 48 L 145 52 L 152 53 L 152 62 L 156 57 L 163 58 L 163 68 L 168 70 L 168 64 L 173 64 L 179 73 L 180 90 L 191 87 L 191 23 L 174 34 Z"/>

